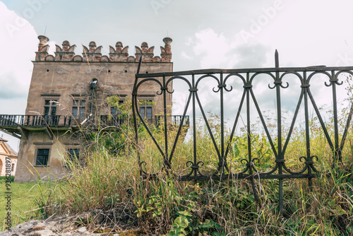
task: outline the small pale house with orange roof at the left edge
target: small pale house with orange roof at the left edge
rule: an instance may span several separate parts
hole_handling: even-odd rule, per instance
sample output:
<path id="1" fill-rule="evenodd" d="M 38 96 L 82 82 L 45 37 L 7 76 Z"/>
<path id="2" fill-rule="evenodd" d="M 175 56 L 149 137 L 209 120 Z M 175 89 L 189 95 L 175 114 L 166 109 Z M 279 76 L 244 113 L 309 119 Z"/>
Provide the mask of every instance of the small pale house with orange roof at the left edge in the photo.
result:
<path id="1" fill-rule="evenodd" d="M 7 162 L 6 162 L 7 161 Z M 6 166 L 7 163 L 7 166 Z M 7 144 L 7 140 L 0 137 L 0 176 L 11 172 L 11 176 L 16 174 L 17 153 Z"/>

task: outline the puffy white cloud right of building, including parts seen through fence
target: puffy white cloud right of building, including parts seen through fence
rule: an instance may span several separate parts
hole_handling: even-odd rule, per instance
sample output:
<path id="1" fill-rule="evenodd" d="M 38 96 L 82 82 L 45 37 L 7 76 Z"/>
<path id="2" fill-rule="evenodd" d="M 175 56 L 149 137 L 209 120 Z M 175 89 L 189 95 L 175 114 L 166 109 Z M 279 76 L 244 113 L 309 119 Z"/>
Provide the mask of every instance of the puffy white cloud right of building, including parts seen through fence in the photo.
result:
<path id="1" fill-rule="evenodd" d="M 187 38 L 181 57 L 189 61 L 198 61 L 198 66 L 202 69 L 239 69 L 239 68 L 258 68 L 266 64 L 268 60 L 268 50 L 270 47 L 258 42 L 245 43 L 239 40 L 239 35 L 227 37 L 225 33 L 216 33 L 212 28 L 198 31 L 193 37 Z M 273 58 L 270 58 L 273 60 Z M 225 115 L 229 119 L 229 125 L 234 122 L 235 114 L 239 108 L 241 95 L 243 92 L 243 83 L 239 78 L 229 78 L 227 88 L 231 92 L 225 92 Z M 174 83 L 176 90 L 174 95 L 174 114 L 181 114 L 184 109 L 184 102 L 187 90 L 181 89 L 177 83 Z M 214 93 L 213 88 L 217 90 L 217 81 L 212 78 L 203 78 L 198 84 L 198 98 L 205 112 L 220 113 L 220 93 Z M 267 85 L 266 85 L 267 88 Z M 181 99 L 184 95 L 184 99 Z M 176 100 L 175 98 L 178 98 Z M 273 101 L 270 104 L 264 104 L 263 107 L 273 107 Z M 196 112 L 200 114 L 198 105 Z M 243 108 L 244 111 L 244 108 Z M 191 110 L 188 111 L 189 114 Z M 243 114 L 245 115 L 245 114 Z M 246 115 L 245 115 L 246 116 Z"/>

